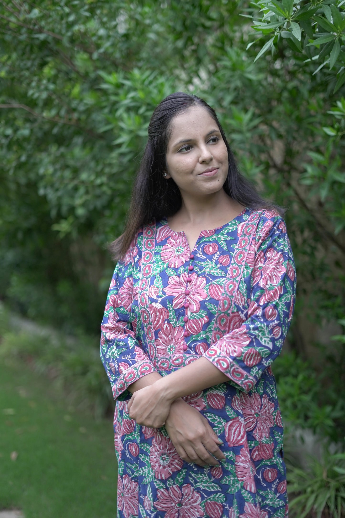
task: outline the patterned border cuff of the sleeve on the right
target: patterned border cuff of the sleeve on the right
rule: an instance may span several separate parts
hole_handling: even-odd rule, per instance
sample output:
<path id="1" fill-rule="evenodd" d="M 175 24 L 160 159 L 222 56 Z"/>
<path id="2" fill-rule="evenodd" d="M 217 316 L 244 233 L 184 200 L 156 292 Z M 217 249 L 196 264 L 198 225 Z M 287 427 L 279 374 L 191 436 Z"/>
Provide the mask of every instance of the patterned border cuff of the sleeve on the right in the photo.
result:
<path id="1" fill-rule="evenodd" d="M 238 367 L 233 359 L 222 353 L 217 347 L 210 347 L 203 356 L 213 363 L 217 369 L 221 370 L 223 374 L 228 376 L 237 389 L 249 392 L 256 384 L 257 380 L 255 378 L 249 376 L 248 372 Z"/>

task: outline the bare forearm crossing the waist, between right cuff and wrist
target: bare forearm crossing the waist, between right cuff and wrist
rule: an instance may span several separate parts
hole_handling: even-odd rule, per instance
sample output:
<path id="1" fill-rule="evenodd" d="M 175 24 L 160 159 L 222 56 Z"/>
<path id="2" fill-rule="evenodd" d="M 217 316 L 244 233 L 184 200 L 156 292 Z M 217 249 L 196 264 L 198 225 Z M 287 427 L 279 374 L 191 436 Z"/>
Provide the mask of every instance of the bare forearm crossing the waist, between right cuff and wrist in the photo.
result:
<path id="1" fill-rule="evenodd" d="M 201 357 L 164 378 L 160 377 L 154 383 L 164 398 L 174 401 L 178 397 L 188 396 L 225 381 L 229 381 L 229 378 L 206 358 Z"/>

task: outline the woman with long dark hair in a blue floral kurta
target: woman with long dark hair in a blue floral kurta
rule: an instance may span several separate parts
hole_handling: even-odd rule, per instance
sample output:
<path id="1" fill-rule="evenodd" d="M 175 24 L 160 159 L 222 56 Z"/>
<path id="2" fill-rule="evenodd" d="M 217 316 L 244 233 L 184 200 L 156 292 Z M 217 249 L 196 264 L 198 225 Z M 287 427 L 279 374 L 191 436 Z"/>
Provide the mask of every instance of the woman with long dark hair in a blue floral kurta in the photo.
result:
<path id="1" fill-rule="evenodd" d="M 286 226 L 239 174 L 214 110 L 153 113 L 102 322 L 118 516 L 288 516 L 271 364 L 288 332 Z"/>

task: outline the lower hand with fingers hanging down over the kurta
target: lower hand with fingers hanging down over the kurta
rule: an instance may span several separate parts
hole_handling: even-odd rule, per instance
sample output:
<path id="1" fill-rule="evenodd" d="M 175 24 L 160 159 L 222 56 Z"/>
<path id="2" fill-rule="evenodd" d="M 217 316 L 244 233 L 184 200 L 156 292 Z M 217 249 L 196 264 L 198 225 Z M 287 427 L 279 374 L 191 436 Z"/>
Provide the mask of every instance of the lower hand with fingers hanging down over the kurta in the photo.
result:
<path id="1" fill-rule="evenodd" d="M 207 464 L 219 466 L 212 455 L 219 460 L 226 458 L 218 448 L 222 441 L 207 419 L 183 399 L 176 399 L 172 403 L 166 429 L 178 455 L 186 462 L 194 462 L 202 467 Z"/>

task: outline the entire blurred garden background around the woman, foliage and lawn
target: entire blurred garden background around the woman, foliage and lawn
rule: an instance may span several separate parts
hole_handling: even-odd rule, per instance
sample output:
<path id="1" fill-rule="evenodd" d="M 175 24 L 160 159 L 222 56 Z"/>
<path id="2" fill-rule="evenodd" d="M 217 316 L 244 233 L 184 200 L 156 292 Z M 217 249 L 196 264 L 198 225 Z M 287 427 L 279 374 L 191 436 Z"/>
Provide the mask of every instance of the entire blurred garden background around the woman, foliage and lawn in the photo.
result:
<path id="1" fill-rule="evenodd" d="M 291 516 L 345 516 L 344 9 L 0 2 L 0 510 L 116 514 L 98 349 L 107 243 L 152 111 L 183 90 L 215 108 L 243 174 L 288 209 L 297 302 L 273 370 Z"/>

